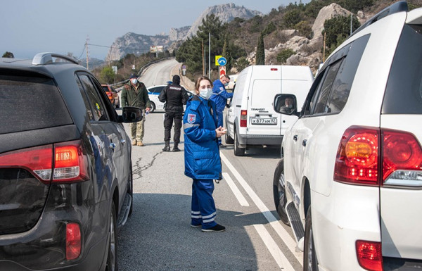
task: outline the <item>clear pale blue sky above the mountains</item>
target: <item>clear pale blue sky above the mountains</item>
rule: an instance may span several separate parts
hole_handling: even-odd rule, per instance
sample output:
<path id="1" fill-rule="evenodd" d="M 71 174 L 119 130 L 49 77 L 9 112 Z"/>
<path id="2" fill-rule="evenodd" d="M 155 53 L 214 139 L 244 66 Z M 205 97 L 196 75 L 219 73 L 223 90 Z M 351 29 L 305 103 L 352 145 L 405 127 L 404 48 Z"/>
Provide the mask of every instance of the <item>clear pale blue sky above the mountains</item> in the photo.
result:
<path id="1" fill-rule="evenodd" d="M 111 46 L 127 32 L 168 34 L 192 25 L 208 6 L 234 3 L 269 13 L 294 0 L 3 0 L 0 5 L 0 57 L 73 53 L 84 58 L 84 44 Z M 307 3 L 309 1 L 303 1 Z M 89 56 L 104 59 L 107 47 L 89 46 Z"/>

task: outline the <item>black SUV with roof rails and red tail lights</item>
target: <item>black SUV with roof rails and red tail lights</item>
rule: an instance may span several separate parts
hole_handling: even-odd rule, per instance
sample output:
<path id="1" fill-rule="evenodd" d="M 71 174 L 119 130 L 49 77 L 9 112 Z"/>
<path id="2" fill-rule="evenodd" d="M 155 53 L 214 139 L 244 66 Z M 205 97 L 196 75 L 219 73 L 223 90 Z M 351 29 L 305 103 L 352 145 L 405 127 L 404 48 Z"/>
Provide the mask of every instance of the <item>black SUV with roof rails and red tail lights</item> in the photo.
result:
<path id="1" fill-rule="evenodd" d="M 0 270 L 117 270 L 131 144 L 96 78 L 67 56 L 0 58 Z"/>

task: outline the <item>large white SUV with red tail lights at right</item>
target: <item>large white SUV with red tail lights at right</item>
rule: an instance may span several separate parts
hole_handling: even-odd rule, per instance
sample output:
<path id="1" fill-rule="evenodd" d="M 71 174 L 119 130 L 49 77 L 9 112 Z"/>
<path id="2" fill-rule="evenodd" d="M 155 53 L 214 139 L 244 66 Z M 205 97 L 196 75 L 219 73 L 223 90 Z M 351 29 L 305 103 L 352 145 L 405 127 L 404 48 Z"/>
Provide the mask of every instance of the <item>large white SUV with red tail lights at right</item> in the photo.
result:
<path id="1" fill-rule="evenodd" d="M 421 270 L 421 48 L 422 8 L 381 11 L 327 59 L 286 131 L 274 201 L 304 270 Z"/>

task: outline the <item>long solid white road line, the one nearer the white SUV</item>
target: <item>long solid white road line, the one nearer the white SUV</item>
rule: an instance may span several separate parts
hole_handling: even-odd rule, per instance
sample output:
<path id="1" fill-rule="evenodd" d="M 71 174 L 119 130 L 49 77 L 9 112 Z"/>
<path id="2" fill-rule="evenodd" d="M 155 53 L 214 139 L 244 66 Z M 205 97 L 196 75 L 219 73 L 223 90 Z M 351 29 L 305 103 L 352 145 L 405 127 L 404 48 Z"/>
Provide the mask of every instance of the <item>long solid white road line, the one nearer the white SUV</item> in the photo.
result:
<path id="1" fill-rule="evenodd" d="M 265 218 L 267 218 L 269 224 L 271 227 L 274 228 L 277 234 L 279 234 L 279 237 L 283 240 L 283 242 L 286 244 L 288 249 L 291 253 L 295 256 L 296 260 L 300 263 L 300 265 L 303 265 L 303 259 L 302 259 L 302 253 L 296 252 L 296 242 L 293 240 L 292 237 L 290 237 L 290 234 L 284 229 L 281 225 L 279 220 L 277 220 L 274 215 L 269 211 L 269 208 L 265 206 L 265 204 L 261 201 L 260 197 L 257 196 L 255 191 L 249 186 L 249 184 L 243 179 L 243 177 L 239 174 L 239 172 L 234 168 L 233 165 L 229 162 L 229 160 L 224 156 L 224 154 L 220 151 L 220 157 L 226 164 L 227 168 L 233 173 L 234 177 L 238 180 L 238 182 L 241 184 L 243 189 L 245 189 L 246 193 L 250 196 L 252 201 L 255 203 L 258 209 L 260 209 L 262 215 L 264 215 Z"/>

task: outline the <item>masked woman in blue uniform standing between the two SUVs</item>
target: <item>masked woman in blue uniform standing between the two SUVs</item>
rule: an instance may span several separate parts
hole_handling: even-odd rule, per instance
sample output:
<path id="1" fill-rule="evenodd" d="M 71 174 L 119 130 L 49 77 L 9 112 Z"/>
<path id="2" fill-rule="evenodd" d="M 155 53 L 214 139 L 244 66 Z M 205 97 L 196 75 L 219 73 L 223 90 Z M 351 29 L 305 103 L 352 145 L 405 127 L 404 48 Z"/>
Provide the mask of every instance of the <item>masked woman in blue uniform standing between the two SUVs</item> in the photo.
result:
<path id="1" fill-rule="evenodd" d="M 193 179 L 191 227 L 203 232 L 222 232 L 215 222 L 214 179 L 222 179 L 218 138 L 226 132 L 217 125 L 215 103 L 210 101 L 212 82 L 201 76 L 196 80 L 196 95 L 188 100 L 184 114 L 184 174 Z"/>

